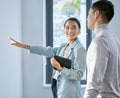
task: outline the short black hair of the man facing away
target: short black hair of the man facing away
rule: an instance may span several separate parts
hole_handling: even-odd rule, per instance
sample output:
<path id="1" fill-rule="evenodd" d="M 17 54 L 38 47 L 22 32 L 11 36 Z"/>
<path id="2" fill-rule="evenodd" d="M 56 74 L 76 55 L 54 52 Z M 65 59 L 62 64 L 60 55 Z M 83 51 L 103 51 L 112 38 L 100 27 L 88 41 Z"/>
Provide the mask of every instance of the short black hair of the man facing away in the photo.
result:
<path id="1" fill-rule="evenodd" d="M 99 10 L 104 19 L 109 22 L 114 16 L 114 5 L 108 0 L 99 0 L 91 6 L 93 11 Z"/>

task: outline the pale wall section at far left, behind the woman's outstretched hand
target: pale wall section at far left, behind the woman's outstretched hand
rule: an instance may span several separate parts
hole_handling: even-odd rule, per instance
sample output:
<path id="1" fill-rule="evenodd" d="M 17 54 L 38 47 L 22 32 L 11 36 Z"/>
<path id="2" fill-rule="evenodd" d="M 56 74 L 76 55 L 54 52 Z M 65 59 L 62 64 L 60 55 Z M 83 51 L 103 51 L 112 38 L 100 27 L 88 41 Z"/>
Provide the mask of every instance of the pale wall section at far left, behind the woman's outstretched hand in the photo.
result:
<path id="1" fill-rule="evenodd" d="M 21 0 L 0 0 L 0 98 L 22 98 L 21 50 L 10 35 L 21 38 Z"/>

